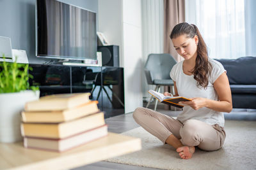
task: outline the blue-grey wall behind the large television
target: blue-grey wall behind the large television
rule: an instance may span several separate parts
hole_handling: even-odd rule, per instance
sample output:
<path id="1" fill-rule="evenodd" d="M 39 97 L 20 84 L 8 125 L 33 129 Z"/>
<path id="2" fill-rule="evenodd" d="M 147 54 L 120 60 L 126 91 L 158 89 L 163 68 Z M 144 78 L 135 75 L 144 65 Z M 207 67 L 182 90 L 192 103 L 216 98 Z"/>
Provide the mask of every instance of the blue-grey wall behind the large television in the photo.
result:
<path id="1" fill-rule="evenodd" d="M 98 13 L 98 0 L 60 0 Z M 26 50 L 30 63 L 47 59 L 35 56 L 36 0 L 0 0 L 0 36 L 12 39 L 12 48 Z"/>

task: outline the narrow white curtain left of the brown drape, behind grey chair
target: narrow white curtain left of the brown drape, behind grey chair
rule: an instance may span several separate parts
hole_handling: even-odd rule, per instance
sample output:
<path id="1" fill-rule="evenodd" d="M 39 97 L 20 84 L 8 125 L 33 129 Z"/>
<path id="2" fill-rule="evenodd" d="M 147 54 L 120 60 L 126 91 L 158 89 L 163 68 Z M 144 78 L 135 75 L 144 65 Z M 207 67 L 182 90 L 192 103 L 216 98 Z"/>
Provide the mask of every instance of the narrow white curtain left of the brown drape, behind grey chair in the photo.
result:
<path id="1" fill-rule="evenodd" d="M 142 0 L 142 54 L 145 64 L 148 54 L 163 53 L 163 0 Z M 155 85 L 148 85 L 143 72 L 143 97 L 147 100 L 150 97 L 148 90 L 155 89 Z"/>

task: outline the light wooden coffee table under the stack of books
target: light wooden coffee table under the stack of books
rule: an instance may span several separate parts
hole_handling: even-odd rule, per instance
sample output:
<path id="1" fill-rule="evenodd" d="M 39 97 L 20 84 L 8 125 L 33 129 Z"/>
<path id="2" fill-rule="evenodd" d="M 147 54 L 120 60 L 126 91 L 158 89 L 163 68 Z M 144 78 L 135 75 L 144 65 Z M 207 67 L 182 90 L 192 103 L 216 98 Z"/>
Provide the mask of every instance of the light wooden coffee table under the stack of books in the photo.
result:
<path id="1" fill-rule="evenodd" d="M 112 132 L 63 153 L 24 148 L 22 142 L 0 143 L 0 169 L 70 169 L 140 149 L 141 139 Z"/>

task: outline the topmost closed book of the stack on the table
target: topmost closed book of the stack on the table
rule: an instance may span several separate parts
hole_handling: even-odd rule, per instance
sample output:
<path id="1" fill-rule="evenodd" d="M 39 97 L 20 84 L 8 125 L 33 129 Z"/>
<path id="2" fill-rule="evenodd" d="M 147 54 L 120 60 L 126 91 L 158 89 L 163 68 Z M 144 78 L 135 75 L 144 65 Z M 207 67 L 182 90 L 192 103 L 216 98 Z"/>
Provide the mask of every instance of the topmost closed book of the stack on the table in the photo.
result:
<path id="1" fill-rule="evenodd" d="M 88 103 L 90 93 L 75 94 L 54 94 L 40 97 L 37 101 L 25 104 L 25 111 L 52 111 L 74 108 L 84 103 Z"/>

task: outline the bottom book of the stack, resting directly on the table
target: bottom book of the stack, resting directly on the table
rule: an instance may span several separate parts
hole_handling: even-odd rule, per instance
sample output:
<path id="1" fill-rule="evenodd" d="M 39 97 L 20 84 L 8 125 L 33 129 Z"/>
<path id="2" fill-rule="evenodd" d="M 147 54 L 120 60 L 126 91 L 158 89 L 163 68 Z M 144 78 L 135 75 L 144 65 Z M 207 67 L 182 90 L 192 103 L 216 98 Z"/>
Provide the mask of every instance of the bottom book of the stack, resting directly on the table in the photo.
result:
<path id="1" fill-rule="evenodd" d="M 63 139 L 24 137 L 25 148 L 64 152 L 108 135 L 108 126 L 102 125 Z"/>

